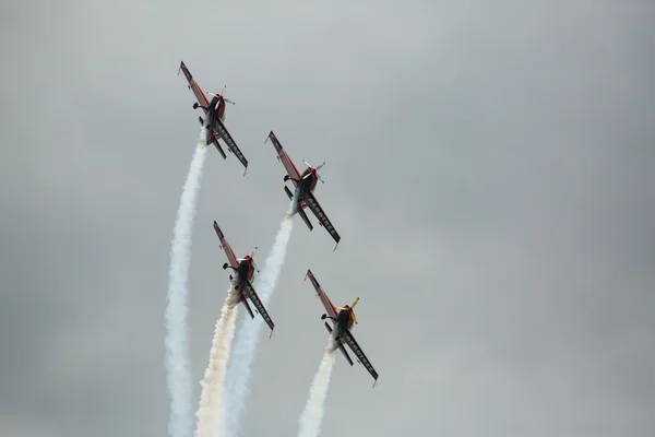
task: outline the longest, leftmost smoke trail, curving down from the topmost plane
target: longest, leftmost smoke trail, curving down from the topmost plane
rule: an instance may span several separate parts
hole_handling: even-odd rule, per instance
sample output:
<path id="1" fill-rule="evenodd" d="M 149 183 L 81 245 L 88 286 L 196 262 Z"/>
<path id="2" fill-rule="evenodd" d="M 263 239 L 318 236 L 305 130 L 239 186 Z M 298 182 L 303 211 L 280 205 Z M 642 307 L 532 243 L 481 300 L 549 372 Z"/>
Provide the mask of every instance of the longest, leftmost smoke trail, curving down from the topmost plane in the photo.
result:
<path id="1" fill-rule="evenodd" d="M 191 262 L 191 235 L 195 217 L 195 200 L 204 166 L 206 145 L 205 129 L 200 131 L 200 141 L 189 167 L 182 188 L 170 248 L 168 271 L 168 306 L 166 307 L 166 377 L 170 397 L 168 433 L 171 437 L 188 437 L 193 429 L 192 380 L 189 363 L 187 327 L 187 279 Z"/>

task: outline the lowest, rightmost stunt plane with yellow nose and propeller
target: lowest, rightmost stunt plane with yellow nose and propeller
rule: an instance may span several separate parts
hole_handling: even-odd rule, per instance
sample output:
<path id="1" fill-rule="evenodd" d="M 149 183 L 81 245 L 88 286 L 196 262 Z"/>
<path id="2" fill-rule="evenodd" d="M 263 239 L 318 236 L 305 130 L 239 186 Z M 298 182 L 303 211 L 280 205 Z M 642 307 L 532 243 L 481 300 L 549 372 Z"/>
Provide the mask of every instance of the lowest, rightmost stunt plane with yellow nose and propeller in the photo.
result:
<path id="1" fill-rule="evenodd" d="M 321 320 L 332 320 L 332 327 L 325 322 L 325 328 L 332 335 L 334 349 L 336 350 L 338 347 L 346 357 L 346 361 L 350 364 L 350 366 L 353 366 L 353 359 L 344 347 L 344 343 L 347 344 L 357 357 L 357 362 L 364 365 L 368 373 L 371 374 L 376 380 L 376 382 L 373 382 L 373 387 L 376 387 L 376 383 L 378 382 L 378 373 L 364 354 L 364 351 L 361 351 L 361 347 L 359 347 L 359 344 L 357 344 L 357 341 L 355 340 L 355 336 L 353 336 L 352 332 L 353 323 L 357 324 L 357 317 L 355 317 L 354 308 L 359 302 L 359 297 L 356 298 L 350 306 L 346 305 L 344 307 L 335 307 L 309 269 L 307 270 L 303 282 L 307 281 L 307 277 L 309 277 L 311 281 L 311 284 L 317 292 L 317 296 L 321 299 L 323 307 L 325 307 L 325 314 L 321 316 Z"/>

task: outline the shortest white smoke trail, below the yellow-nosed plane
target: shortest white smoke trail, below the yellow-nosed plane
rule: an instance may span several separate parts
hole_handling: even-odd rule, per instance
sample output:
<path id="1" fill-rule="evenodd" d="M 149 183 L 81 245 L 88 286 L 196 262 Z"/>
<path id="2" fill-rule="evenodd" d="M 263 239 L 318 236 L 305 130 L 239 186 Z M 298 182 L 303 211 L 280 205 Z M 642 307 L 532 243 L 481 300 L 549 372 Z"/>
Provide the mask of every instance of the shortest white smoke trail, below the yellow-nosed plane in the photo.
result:
<path id="1" fill-rule="evenodd" d="M 300 416 L 299 437 L 318 437 L 318 435 L 321 434 L 323 404 L 327 397 L 330 377 L 332 376 L 332 369 L 334 368 L 334 354 L 336 352 L 332 343 L 331 336 L 327 342 L 327 347 L 325 347 L 323 359 L 321 359 L 319 371 L 317 371 L 313 381 L 311 382 L 305 411 Z"/>

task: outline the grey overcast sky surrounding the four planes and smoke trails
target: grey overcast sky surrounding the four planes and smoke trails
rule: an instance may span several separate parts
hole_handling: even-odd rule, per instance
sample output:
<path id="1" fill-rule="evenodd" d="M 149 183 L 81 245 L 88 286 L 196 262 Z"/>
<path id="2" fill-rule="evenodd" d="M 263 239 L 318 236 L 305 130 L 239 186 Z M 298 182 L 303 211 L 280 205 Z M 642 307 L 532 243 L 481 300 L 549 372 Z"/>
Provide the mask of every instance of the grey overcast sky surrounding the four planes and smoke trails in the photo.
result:
<path id="1" fill-rule="evenodd" d="M 213 221 L 262 267 L 287 208 L 271 129 L 327 163 L 315 194 L 343 238 L 296 218 L 245 436 L 297 433 L 326 338 L 308 268 L 336 305 L 361 298 L 380 374 L 337 356 L 325 436 L 654 435 L 655 8 L 473 3 L 5 2 L 0 435 L 167 433 L 170 238 L 200 131 L 180 60 L 227 84 L 251 163 L 209 151 L 195 380 L 228 287 Z"/>

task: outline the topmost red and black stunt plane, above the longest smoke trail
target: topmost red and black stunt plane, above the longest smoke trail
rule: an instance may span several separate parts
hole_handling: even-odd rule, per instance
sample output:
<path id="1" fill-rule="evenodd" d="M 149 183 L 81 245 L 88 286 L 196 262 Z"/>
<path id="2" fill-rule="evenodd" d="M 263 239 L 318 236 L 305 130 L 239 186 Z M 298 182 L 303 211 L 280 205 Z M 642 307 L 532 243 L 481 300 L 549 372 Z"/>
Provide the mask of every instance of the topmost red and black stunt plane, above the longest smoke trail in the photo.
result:
<path id="1" fill-rule="evenodd" d="M 227 131 L 227 128 L 224 125 L 226 106 L 225 104 L 229 103 L 234 105 L 235 103 L 225 98 L 223 96 L 223 91 L 221 92 L 221 94 L 206 93 L 213 96 L 211 102 L 207 101 L 205 93 L 203 93 L 200 85 L 195 82 L 195 80 L 191 75 L 191 72 L 189 71 L 183 61 L 180 62 L 178 74 L 180 73 L 180 70 L 184 73 L 187 82 L 189 82 L 187 87 L 193 91 L 193 94 L 195 94 L 195 98 L 198 98 L 198 102 L 193 104 L 193 109 L 200 107 L 205 113 L 204 120 L 202 117 L 198 117 L 198 120 L 201 125 L 205 125 L 206 121 L 207 134 L 205 139 L 205 144 L 209 144 L 210 142 L 213 143 L 216 146 L 218 153 L 221 153 L 221 155 L 223 156 L 223 158 L 227 160 L 225 152 L 218 144 L 218 139 L 222 139 L 225 142 L 225 144 L 227 144 L 229 152 L 234 153 L 237 160 L 239 160 L 243 167 L 246 167 L 246 170 L 243 170 L 243 176 L 246 176 L 246 172 L 248 172 L 248 160 L 246 160 L 246 156 L 243 156 L 243 153 L 241 153 L 239 146 L 231 138 L 231 135 Z"/>

